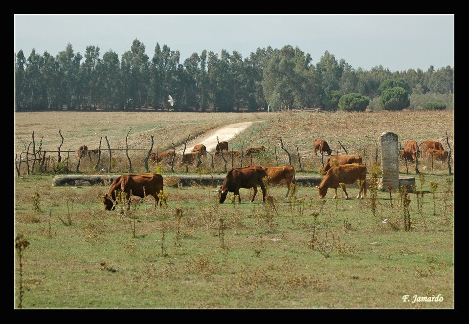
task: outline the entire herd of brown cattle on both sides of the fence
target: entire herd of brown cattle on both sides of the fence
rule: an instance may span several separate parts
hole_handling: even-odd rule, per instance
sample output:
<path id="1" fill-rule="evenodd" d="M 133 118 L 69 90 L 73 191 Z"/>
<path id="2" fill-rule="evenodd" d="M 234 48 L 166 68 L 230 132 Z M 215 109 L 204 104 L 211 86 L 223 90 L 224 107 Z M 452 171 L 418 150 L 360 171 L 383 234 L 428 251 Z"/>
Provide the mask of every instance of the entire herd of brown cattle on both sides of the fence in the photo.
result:
<path id="1" fill-rule="evenodd" d="M 320 151 L 321 154 L 327 153 L 331 155 L 332 150 L 325 140 L 315 139 L 313 141 L 314 153 Z M 249 148 L 244 151 L 228 151 L 228 142 L 223 141 L 217 144 L 213 157 L 227 154 L 228 156 L 250 156 L 256 152 L 266 151 L 266 148 L 259 146 L 256 148 Z M 97 154 L 98 150 L 88 150 L 86 145 L 80 146 L 78 155 L 86 156 L 87 154 Z M 161 162 L 164 159 L 171 160 L 174 156 L 174 151 L 165 151 L 160 153 L 151 153 L 150 160 L 154 162 Z M 198 144 L 194 146 L 190 153 L 186 153 L 186 163 L 192 163 L 199 156 L 205 156 L 207 149 L 205 145 Z M 403 150 L 399 151 L 399 155 L 402 159 L 415 162 L 416 157 L 427 157 L 432 156 L 436 160 L 445 161 L 448 157 L 448 151 L 443 150 L 443 146 L 440 142 L 425 141 L 420 146 L 414 140 L 408 140 L 405 142 Z M 364 198 L 366 196 L 366 166 L 363 165 L 361 155 L 358 154 L 343 154 L 330 156 L 327 160 L 324 168 L 322 169 L 324 178 L 316 186 L 320 198 L 324 198 L 329 188 L 335 189 L 334 197 L 337 197 L 337 188 L 340 186 L 345 193 L 345 199 L 348 199 L 347 191 L 345 190 L 345 184 L 353 184 L 359 180 L 360 191 L 357 195 L 357 199 Z M 239 190 L 241 188 L 250 189 L 253 188 L 254 194 L 251 198 L 251 202 L 254 200 L 257 194 L 257 187 L 261 187 L 262 200 L 266 200 L 266 187 L 265 179 L 272 184 L 287 185 L 288 197 L 290 193 L 290 184 L 295 181 L 295 169 L 290 166 L 270 167 L 270 166 L 247 166 L 244 168 L 236 168 L 230 170 L 223 181 L 223 185 L 218 190 L 219 202 L 223 204 L 226 196 L 229 192 L 238 195 L 239 202 L 241 202 L 241 196 Z M 342 184 L 342 185 L 341 185 Z M 116 204 L 116 190 L 122 190 L 130 198 L 131 195 L 139 196 L 143 198 L 145 195 L 152 195 L 155 198 L 155 207 L 158 205 L 158 194 L 163 192 L 163 177 L 160 174 L 127 174 L 117 177 L 111 185 L 111 189 L 108 194 L 103 196 L 103 203 L 105 210 L 112 210 Z M 161 203 L 160 203 L 161 204 Z"/>

